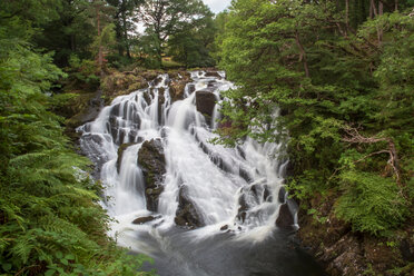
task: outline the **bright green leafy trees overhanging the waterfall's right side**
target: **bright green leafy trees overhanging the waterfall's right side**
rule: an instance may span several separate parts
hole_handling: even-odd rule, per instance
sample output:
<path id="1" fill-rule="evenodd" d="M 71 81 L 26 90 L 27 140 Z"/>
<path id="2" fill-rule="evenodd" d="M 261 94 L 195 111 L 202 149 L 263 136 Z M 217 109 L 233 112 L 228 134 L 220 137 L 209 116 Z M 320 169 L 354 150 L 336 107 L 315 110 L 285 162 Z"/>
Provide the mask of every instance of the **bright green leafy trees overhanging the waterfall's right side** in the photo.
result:
<path id="1" fill-rule="evenodd" d="M 216 19 L 224 33 L 215 55 L 238 88 L 224 93 L 215 141 L 285 140 L 288 188 L 303 206 L 316 209 L 316 195 L 336 193 L 337 214 L 354 230 L 383 235 L 413 207 L 414 21 L 412 8 L 391 6 L 367 19 L 366 6 L 233 1 Z M 349 126 L 358 139 L 345 139 Z"/>

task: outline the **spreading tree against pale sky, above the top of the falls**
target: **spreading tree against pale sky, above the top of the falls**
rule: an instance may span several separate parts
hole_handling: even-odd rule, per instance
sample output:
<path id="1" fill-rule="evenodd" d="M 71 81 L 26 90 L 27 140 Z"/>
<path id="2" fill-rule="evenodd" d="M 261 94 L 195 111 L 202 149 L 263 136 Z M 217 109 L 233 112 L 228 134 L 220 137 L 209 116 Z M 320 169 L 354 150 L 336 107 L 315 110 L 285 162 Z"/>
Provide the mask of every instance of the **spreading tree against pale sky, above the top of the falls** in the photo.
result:
<path id="1" fill-rule="evenodd" d="M 208 39 L 206 33 L 211 28 L 208 26 L 213 23 L 211 17 L 211 11 L 200 0 L 145 1 L 141 18 L 146 26 L 146 39 L 152 40 L 151 53 L 158 59 L 151 63 L 161 65 L 161 53 L 167 43 L 177 61 L 188 66 L 213 63 L 206 51 L 207 43 L 201 43 Z M 184 38 L 186 41 L 181 41 Z M 208 42 L 213 42 L 213 37 Z"/>

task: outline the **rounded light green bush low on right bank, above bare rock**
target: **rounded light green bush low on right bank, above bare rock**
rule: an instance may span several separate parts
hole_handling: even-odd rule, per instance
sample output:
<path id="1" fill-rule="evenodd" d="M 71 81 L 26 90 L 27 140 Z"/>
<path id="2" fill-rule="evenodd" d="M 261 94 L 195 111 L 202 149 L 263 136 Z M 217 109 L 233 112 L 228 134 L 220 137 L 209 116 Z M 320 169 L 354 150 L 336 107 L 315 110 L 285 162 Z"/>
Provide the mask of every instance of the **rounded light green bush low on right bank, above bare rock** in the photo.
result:
<path id="1" fill-rule="evenodd" d="M 356 170 L 344 171 L 339 178 L 344 194 L 335 213 L 354 230 L 384 235 L 404 221 L 407 203 L 393 179 Z"/>

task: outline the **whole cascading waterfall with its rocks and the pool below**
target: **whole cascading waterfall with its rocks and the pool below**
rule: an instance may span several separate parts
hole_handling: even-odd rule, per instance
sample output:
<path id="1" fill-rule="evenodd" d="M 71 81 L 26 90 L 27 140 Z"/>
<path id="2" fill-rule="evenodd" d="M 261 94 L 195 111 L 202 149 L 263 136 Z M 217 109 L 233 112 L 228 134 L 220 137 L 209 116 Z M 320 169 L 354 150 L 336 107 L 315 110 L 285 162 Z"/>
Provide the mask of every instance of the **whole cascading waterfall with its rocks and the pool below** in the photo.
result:
<path id="1" fill-rule="evenodd" d="M 176 101 L 168 75 L 161 75 L 78 129 L 106 187 L 102 205 L 118 221 L 111 234 L 121 246 L 154 257 L 160 275 L 322 275 L 306 255 L 288 248 L 288 234 L 276 226 L 287 205 L 287 162 L 275 158 L 282 145 L 209 144 L 220 117 L 214 101 L 233 87 L 218 73 L 191 72 Z M 154 160 L 144 166 L 152 149 Z M 296 219 L 289 226 L 297 227 Z"/>

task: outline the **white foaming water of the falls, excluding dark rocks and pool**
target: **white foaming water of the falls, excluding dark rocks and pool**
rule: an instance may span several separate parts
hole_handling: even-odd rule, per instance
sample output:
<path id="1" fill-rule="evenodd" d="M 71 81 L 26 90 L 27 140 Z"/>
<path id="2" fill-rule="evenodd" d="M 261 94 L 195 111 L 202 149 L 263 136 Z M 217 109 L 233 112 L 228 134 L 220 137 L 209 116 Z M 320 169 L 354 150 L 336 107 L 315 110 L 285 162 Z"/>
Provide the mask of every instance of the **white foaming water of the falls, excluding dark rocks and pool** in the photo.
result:
<path id="1" fill-rule="evenodd" d="M 191 72 L 194 82 L 186 87 L 185 99 L 171 103 L 168 75 L 160 78 L 161 81 L 150 83 L 149 89 L 116 98 L 95 121 L 78 129 L 82 132 L 83 151 L 101 167 L 100 179 L 109 197 L 102 204 L 118 221 L 112 225 L 111 235 L 132 250 L 155 257 L 160 253 L 172 254 L 175 258 L 184 258 L 184 254 L 176 252 L 176 240 L 206 240 L 223 234 L 220 228 L 226 225 L 233 233 L 230 239 L 265 240 L 277 228 L 278 193 L 287 165 L 275 158 L 282 150 L 280 145 L 259 145 L 247 139 L 231 149 L 209 144 L 216 137 L 211 131 L 218 127 L 218 105 L 213 118 L 206 121 L 197 111 L 196 92 L 190 92 L 189 85 L 198 91 L 214 81 L 209 89 L 218 101 L 220 91 L 231 88 L 233 83 L 195 71 Z M 149 96 L 149 103 L 145 95 Z M 158 105 L 159 97 L 165 99 L 162 105 Z M 137 165 L 142 141 L 154 138 L 162 140 L 167 164 L 157 214 L 147 210 L 145 180 Z M 132 145 L 124 151 L 118 171 L 117 151 L 127 142 Z M 180 230 L 175 226 L 181 185 L 187 186 L 206 225 L 199 229 Z M 237 216 L 240 197 L 247 206 L 244 219 Z M 132 224 L 134 219 L 148 215 L 156 215 L 157 219 L 144 225 Z M 183 268 L 183 275 L 196 275 L 194 269 L 193 273 L 188 269 L 186 273 Z"/>

